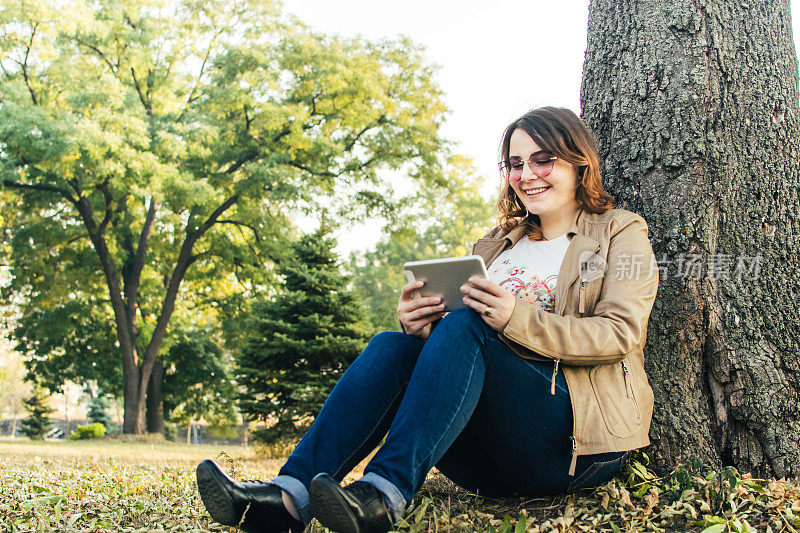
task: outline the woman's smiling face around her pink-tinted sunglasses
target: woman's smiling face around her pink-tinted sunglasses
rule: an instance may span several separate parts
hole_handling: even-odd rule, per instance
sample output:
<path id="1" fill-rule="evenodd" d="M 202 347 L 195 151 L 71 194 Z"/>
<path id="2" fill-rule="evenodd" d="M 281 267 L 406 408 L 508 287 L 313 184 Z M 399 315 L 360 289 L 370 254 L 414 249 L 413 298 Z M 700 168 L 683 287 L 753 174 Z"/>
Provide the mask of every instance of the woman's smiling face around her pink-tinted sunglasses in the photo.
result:
<path id="1" fill-rule="evenodd" d="M 562 159 L 553 162 L 553 169 L 547 176 L 539 177 L 531 171 L 527 161 L 532 155 L 537 160 L 546 160 L 548 152 L 544 152 L 525 130 L 516 129 L 511 134 L 508 157 L 519 158 L 526 163 L 522 167 L 522 177 L 509 180 L 511 188 L 517 193 L 522 204 L 529 213 L 535 215 L 553 215 L 562 211 L 574 212 L 578 208 L 575 201 L 575 189 L 578 187 L 578 171 Z M 549 154 L 553 155 L 553 154 Z M 544 190 L 540 189 L 544 187 Z"/>

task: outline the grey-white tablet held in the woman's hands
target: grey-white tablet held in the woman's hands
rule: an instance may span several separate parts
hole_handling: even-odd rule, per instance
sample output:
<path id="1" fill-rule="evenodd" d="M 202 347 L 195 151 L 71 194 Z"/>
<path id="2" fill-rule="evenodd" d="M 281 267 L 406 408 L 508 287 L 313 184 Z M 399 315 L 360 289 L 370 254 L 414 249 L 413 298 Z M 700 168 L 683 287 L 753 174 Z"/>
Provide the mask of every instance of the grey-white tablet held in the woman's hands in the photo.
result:
<path id="1" fill-rule="evenodd" d="M 464 294 L 460 287 L 474 275 L 488 277 L 483 257 L 468 255 L 466 257 L 445 257 L 427 261 L 410 261 L 403 265 L 406 279 L 422 280 L 425 285 L 414 291 L 414 298 L 441 296 L 445 311 L 453 311 L 467 305 L 461 301 Z"/>

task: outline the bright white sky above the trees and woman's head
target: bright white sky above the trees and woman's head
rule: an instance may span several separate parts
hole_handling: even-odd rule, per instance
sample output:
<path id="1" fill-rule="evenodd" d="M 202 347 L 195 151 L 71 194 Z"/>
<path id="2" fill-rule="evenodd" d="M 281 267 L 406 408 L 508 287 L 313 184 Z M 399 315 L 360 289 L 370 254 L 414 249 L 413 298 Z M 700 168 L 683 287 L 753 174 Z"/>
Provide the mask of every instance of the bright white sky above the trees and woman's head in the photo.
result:
<path id="1" fill-rule="evenodd" d="M 791 1 L 793 12 L 798 3 Z M 403 34 L 424 45 L 440 66 L 437 82 L 451 110 L 443 133 L 489 179 L 497 178 L 497 146 L 513 119 L 543 105 L 580 112 L 587 0 L 285 0 L 285 8 L 326 33 Z M 359 238 L 340 239 L 340 253 L 370 247 L 380 236 L 375 224 L 355 230 Z"/>

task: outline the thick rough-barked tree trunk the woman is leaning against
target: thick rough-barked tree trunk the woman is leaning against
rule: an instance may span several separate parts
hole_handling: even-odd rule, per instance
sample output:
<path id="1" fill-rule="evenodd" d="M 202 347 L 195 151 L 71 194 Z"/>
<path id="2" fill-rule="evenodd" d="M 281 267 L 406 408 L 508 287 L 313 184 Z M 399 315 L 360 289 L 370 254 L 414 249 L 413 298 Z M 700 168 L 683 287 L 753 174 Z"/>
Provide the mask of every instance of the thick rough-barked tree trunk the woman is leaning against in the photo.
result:
<path id="1" fill-rule="evenodd" d="M 661 269 L 648 453 L 800 473 L 800 122 L 788 0 L 592 0 L 581 100 Z"/>

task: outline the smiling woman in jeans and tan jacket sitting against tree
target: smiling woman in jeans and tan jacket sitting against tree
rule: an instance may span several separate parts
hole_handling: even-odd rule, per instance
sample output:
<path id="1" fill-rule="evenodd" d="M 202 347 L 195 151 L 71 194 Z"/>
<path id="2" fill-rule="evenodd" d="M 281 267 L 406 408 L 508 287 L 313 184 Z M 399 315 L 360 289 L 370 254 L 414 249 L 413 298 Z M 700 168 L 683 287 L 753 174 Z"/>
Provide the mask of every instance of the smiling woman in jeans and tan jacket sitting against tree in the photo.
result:
<path id="1" fill-rule="evenodd" d="M 612 209 L 591 135 L 569 110 L 515 120 L 500 156 L 500 225 L 473 249 L 489 279 L 461 288 L 468 307 L 445 316 L 438 299 L 411 297 L 420 283 L 406 285 L 404 333 L 370 341 L 276 478 L 235 482 L 198 466 L 215 520 L 299 531 L 315 516 L 334 531 L 382 532 L 434 466 L 488 496 L 552 495 L 606 481 L 649 444 L 642 347 L 658 269 L 647 224 Z M 364 476 L 341 487 L 384 435 Z"/>

